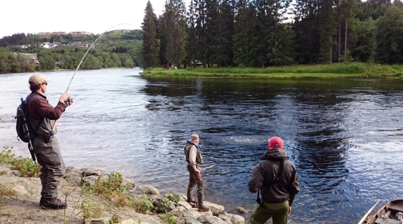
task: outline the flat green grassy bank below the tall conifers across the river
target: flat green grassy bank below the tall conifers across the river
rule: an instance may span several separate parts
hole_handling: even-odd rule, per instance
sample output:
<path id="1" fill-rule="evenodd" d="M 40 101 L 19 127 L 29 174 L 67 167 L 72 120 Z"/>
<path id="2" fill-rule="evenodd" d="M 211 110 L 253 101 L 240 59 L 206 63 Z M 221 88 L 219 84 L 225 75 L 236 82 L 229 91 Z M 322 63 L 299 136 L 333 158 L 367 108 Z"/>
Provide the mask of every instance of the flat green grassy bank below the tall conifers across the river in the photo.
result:
<path id="1" fill-rule="evenodd" d="M 338 63 L 267 68 L 146 69 L 143 76 L 241 78 L 241 79 L 403 79 L 403 65 Z"/>

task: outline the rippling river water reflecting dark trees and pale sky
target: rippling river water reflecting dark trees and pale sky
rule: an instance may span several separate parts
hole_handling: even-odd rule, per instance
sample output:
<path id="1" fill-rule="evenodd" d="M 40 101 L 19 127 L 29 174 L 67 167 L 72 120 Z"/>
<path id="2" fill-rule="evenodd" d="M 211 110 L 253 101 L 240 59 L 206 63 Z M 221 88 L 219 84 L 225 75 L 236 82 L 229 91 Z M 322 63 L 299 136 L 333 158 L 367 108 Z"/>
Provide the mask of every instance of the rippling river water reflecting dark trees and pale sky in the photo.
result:
<path id="1" fill-rule="evenodd" d="M 66 166 L 118 171 L 137 185 L 185 193 L 183 147 L 197 133 L 205 162 L 216 163 L 203 173 L 206 200 L 253 211 L 256 195 L 247 181 L 267 139 L 278 135 L 300 178 L 290 223 L 356 223 L 377 199 L 403 196 L 401 81 L 170 79 L 139 72 L 76 74 L 74 104 L 57 124 Z M 0 75 L 0 146 L 27 157 L 14 116 L 31 74 Z M 73 71 L 43 74 L 55 105 Z"/>

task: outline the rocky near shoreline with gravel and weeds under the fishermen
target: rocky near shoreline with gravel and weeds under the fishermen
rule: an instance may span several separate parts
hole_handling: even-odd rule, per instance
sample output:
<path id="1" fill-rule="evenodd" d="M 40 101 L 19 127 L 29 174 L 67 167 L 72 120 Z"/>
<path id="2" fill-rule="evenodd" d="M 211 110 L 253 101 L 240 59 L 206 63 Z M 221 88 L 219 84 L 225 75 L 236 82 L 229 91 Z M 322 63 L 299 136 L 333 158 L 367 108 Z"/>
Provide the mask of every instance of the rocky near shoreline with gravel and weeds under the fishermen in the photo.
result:
<path id="1" fill-rule="evenodd" d="M 19 177 L 10 164 L 0 164 L 0 223 L 142 223 L 142 224 L 243 224 L 246 210 L 226 211 L 224 206 L 205 202 L 210 211 L 198 212 L 180 193 L 164 195 L 150 185 L 137 186 L 133 180 L 96 168 L 68 167 L 60 180 L 59 198 L 68 202 L 65 210 L 43 210 L 38 206 L 39 178 Z M 106 198 L 101 193 L 84 192 L 86 187 L 107 190 L 104 183 L 119 177 L 119 186 L 128 190 L 130 201 L 141 201 L 137 207 L 125 206 L 118 193 Z M 102 184 L 102 186 L 101 186 Z M 122 188 L 123 189 L 123 188 Z M 141 211 L 141 212 L 139 212 Z M 232 213 L 229 213 L 232 212 Z M 237 212 L 238 214 L 235 214 Z"/>

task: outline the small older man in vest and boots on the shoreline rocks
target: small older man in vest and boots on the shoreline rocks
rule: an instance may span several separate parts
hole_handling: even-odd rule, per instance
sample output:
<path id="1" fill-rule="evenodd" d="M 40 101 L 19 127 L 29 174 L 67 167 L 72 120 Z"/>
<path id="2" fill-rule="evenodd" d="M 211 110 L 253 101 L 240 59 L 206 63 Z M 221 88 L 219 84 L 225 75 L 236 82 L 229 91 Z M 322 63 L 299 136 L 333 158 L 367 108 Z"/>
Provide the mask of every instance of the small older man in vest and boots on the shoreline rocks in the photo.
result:
<path id="1" fill-rule="evenodd" d="M 197 211 L 208 211 L 210 207 L 203 205 L 205 189 L 204 181 L 201 179 L 201 169 L 199 164 L 203 163 L 203 156 L 197 148 L 199 137 L 197 134 L 190 136 L 190 141 L 186 143 L 185 155 L 187 162 L 187 171 L 189 171 L 189 184 L 187 185 L 187 202 L 195 203 L 197 201 Z M 192 200 L 192 189 L 197 184 L 197 200 Z"/>

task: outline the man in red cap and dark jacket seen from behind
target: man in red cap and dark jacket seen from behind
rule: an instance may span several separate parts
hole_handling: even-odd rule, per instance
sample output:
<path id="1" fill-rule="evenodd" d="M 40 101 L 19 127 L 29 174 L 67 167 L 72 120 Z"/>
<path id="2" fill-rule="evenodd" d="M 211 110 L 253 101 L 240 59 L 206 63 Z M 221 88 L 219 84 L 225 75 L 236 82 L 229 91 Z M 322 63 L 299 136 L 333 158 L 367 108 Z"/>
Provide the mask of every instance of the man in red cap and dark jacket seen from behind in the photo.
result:
<path id="1" fill-rule="evenodd" d="M 297 169 L 288 161 L 280 137 L 268 139 L 267 149 L 248 181 L 249 191 L 260 190 L 262 197 L 248 223 L 263 224 L 273 217 L 273 224 L 286 224 L 294 197 L 299 192 Z"/>

